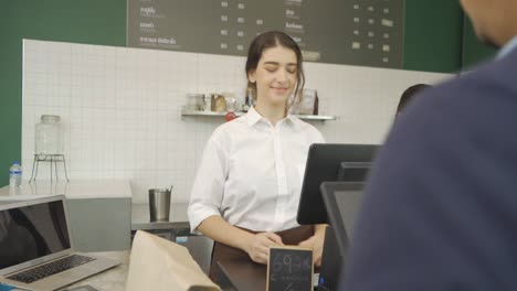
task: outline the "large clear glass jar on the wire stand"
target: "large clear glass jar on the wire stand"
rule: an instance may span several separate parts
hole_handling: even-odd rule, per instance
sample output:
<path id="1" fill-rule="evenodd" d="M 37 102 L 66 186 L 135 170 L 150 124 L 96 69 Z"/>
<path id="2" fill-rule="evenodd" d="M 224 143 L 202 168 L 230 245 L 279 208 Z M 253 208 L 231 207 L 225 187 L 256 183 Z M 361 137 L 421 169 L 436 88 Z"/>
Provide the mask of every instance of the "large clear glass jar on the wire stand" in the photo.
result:
<path id="1" fill-rule="evenodd" d="M 42 115 L 41 122 L 35 126 L 35 153 L 62 154 L 63 138 L 61 118 L 55 115 Z"/>

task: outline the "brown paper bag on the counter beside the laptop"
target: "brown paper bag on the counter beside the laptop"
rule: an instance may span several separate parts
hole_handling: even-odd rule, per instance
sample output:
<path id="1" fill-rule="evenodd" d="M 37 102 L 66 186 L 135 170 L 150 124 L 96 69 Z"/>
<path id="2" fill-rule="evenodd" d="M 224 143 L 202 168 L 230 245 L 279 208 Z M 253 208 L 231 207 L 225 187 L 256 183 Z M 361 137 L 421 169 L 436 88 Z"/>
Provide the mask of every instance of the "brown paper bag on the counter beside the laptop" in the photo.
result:
<path id="1" fill-rule="evenodd" d="M 221 290 L 189 250 L 161 237 L 138 230 L 133 241 L 126 291 Z"/>

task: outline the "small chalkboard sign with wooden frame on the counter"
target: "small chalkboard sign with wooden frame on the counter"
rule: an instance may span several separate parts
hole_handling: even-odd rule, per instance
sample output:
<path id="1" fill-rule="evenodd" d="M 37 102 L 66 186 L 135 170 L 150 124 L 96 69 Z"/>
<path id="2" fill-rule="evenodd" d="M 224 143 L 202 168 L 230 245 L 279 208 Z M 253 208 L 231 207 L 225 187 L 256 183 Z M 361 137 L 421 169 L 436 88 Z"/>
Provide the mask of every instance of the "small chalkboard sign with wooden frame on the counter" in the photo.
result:
<path id="1" fill-rule="evenodd" d="M 271 247 L 267 291 L 312 291 L 313 271 L 313 249 Z"/>

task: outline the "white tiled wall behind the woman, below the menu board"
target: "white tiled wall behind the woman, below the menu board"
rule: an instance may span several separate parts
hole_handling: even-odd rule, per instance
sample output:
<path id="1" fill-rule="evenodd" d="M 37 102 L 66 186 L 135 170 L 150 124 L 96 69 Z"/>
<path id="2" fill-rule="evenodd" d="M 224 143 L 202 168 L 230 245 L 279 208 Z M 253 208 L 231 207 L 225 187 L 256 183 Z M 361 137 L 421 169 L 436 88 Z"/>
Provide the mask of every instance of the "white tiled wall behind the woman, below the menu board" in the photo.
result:
<path id="1" fill-rule="evenodd" d="M 59 115 L 71 179 L 129 179 L 135 202 L 147 188 L 175 185 L 187 201 L 198 161 L 218 117 L 181 117 L 187 93 L 243 96 L 244 57 L 25 40 L 22 163 L 29 179 L 34 127 Z M 312 121 L 329 142 L 380 143 L 401 93 L 446 74 L 305 63 L 306 87 L 318 90 Z M 63 174 L 60 169 L 60 175 Z M 49 179 L 49 165 L 39 179 Z"/>

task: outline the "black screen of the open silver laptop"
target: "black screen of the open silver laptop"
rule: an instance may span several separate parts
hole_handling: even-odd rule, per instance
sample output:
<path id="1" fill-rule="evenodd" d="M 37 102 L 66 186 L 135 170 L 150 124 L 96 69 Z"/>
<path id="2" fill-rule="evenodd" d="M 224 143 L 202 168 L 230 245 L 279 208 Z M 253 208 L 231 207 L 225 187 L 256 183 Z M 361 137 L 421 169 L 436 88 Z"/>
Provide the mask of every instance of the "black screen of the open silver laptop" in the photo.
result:
<path id="1" fill-rule="evenodd" d="M 0 211 L 0 269 L 68 248 L 63 201 Z"/>

